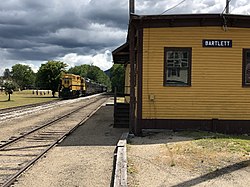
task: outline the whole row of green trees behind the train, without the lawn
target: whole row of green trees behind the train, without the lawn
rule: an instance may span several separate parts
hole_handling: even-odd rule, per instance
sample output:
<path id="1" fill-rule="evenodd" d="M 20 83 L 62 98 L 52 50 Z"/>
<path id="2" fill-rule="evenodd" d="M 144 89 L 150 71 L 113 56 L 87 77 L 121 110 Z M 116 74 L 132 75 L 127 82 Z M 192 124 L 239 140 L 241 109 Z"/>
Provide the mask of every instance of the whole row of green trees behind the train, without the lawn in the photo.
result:
<path id="1" fill-rule="evenodd" d="M 103 84 L 109 90 L 117 87 L 119 91 L 124 88 L 124 68 L 121 65 L 114 65 L 109 72 L 109 76 L 99 67 L 93 65 L 80 65 L 66 70 L 67 64 L 61 61 L 48 61 L 42 64 L 37 73 L 34 73 L 30 66 L 16 64 L 11 70 L 5 69 L 0 86 L 4 86 L 5 91 L 12 93 L 14 89 L 48 89 L 52 90 L 53 96 L 58 91 L 60 77 L 62 73 L 72 73 L 94 82 Z M 4 81 L 3 81 L 4 80 Z"/>

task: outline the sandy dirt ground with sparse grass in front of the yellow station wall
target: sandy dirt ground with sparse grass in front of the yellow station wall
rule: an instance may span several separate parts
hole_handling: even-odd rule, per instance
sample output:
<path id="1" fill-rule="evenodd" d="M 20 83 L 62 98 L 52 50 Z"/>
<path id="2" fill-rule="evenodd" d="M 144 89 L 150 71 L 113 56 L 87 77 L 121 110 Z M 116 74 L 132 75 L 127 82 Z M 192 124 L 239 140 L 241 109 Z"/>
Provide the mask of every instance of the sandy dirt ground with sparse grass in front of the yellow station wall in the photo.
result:
<path id="1" fill-rule="evenodd" d="M 148 131 L 127 150 L 130 187 L 250 185 L 249 136 Z"/>

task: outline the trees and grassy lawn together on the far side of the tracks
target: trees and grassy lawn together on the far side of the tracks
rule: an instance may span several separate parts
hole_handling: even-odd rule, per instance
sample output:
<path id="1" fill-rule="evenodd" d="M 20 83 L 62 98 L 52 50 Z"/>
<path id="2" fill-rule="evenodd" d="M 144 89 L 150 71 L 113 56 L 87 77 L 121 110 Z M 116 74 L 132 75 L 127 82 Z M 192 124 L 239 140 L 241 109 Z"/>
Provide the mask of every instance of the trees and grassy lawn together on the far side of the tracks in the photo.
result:
<path id="1" fill-rule="evenodd" d="M 45 102 L 57 97 L 63 73 L 72 73 L 93 80 L 107 86 L 108 91 L 114 90 L 114 87 L 120 92 L 124 89 L 123 66 L 113 65 L 105 72 L 97 66 L 87 64 L 68 70 L 66 68 L 66 63 L 51 60 L 42 64 L 37 73 L 30 66 L 23 64 L 15 64 L 11 69 L 5 69 L 3 76 L 0 76 L 0 108 Z M 40 90 L 46 90 L 46 93 L 50 94 L 40 94 Z"/>

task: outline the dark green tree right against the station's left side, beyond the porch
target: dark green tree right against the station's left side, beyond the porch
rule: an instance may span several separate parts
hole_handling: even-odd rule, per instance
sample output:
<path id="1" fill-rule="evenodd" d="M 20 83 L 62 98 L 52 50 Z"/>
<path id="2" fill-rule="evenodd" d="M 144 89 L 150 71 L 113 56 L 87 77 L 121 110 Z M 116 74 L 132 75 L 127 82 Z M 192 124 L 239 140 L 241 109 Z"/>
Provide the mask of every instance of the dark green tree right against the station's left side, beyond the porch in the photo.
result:
<path id="1" fill-rule="evenodd" d="M 112 85 L 112 91 L 114 92 L 115 87 L 117 92 L 124 93 L 125 85 L 125 70 L 123 65 L 114 64 L 110 69 L 110 79 Z"/>

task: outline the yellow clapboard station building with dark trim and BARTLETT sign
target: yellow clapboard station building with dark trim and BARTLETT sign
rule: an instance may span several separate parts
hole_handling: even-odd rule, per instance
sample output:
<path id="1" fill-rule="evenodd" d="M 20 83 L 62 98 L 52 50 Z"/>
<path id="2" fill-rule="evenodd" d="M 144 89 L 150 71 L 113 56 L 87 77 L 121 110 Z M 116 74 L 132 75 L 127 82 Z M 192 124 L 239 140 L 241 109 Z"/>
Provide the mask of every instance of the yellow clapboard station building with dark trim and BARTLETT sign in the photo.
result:
<path id="1" fill-rule="evenodd" d="M 113 59 L 126 67 L 135 134 L 250 133 L 250 16 L 132 15 Z"/>

